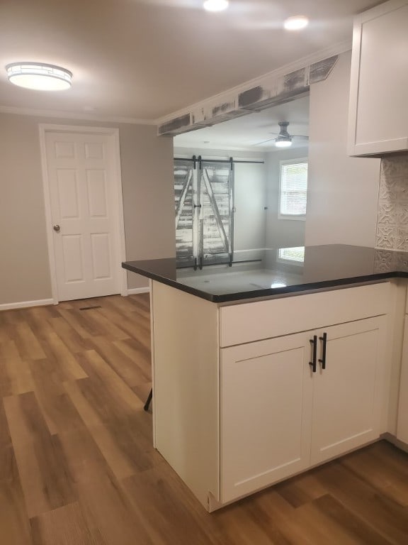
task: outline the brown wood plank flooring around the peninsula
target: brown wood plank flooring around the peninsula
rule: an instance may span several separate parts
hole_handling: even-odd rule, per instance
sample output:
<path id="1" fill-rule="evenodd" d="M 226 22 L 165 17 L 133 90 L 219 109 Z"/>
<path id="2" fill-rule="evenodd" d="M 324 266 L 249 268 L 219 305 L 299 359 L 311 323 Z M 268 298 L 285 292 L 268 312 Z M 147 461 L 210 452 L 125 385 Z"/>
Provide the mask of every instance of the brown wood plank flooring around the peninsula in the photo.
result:
<path id="1" fill-rule="evenodd" d="M 0 312 L 1 545 L 408 544 L 385 441 L 208 514 L 152 448 L 150 376 L 146 294 Z"/>

